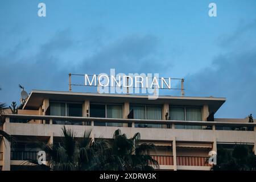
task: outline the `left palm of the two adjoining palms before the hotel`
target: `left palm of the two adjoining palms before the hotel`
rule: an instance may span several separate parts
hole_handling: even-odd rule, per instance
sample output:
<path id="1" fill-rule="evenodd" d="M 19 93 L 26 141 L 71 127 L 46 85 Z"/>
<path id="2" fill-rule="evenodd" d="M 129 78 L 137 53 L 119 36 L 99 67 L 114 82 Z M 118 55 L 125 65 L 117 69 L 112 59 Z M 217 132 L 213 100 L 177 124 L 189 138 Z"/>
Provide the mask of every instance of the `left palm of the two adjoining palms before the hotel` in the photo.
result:
<path id="1" fill-rule="evenodd" d="M 90 138 L 92 130 L 86 130 L 81 139 L 76 139 L 76 133 L 71 129 L 62 129 L 61 143 L 40 144 L 46 151 L 48 166 L 39 165 L 53 171 L 89 171 L 97 170 L 108 151 L 109 143 L 105 139 L 95 141 Z M 28 160 L 38 165 L 38 161 Z"/>

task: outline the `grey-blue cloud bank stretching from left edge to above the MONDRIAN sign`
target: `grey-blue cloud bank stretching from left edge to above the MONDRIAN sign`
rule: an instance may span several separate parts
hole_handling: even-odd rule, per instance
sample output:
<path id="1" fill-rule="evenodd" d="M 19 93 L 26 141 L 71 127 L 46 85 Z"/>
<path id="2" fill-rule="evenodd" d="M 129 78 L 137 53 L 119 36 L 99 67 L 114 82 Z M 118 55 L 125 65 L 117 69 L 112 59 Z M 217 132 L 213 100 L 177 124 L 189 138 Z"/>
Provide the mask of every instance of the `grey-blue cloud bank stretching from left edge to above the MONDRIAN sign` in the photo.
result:
<path id="1" fill-rule="evenodd" d="M 99 35 L 101 33 L 104 34 L 104 31 L 97 32 L 95 39 L 87 39 L 90 35 L 86 35 L 84 39 L 90 42 L 95 40 L 97 43 L 90 45 L 97 47 L 98 43 L 106 39 L 104 35 Z M 115 68 L 118 73 L 147 73 L 160 72 L 170 65 L 164 61 L 161 64 L 156 61 L 160 56 L 159 40 L 153 35 L 124 36 L 105 42 L 97 48 L 88 47 L 88 44 L 83 44 L 82 40 L 74 37 L 71 30 L 57 31 L 48 42 L 39 44 L 36 48 L 28 39 L 2 53 L 1 101 L 7 104 L 13 100 L 18 101 L 18 84 L 25 86 L 27 91 L 67 90 L 70 72 L 109 73 L 110 68 Z M 26 51 L 30 48 L 31 51 Z M 82 61 L 76 61 L 75 53 L 84 57 Z"/>

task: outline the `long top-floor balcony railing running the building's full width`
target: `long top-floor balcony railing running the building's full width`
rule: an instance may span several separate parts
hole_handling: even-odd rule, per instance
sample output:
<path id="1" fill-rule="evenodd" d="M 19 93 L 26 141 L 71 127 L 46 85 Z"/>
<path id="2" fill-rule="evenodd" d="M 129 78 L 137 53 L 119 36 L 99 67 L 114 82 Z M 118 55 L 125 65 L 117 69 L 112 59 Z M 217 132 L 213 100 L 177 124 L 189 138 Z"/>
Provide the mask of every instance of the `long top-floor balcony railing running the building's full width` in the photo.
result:
<path id="1" fill-rule="evenodd" d="M 150 120 L 150 119 L 117 119 L 117 118 L 92 118 L 92 117 L 61 117 L 53 115 L 21 115 L 6 114 L 10 122 L 18 123 L 37 123 L 42 121 L 44 124 L 56 125 L 88 125 L 96 126 L 117 126 L 117 127 L 152 127 L 158 129 L 196 129 L 196 130 L 234 130 L 254 131 L 256 123 L 237 123 L 220 121 L 174 121 L 174 120 Z M 56 122 L 64 121 L 64 122 Z M 100 125 L 99 123 L 102 123 Z M 120 125 L 122 124 L 122 125 Z M 166 126 L 166 127 L 165 127 Z M 183 127 L 181 127 L 183 126 Z M 184 127 L 187 126 L 187 127 Z"/>

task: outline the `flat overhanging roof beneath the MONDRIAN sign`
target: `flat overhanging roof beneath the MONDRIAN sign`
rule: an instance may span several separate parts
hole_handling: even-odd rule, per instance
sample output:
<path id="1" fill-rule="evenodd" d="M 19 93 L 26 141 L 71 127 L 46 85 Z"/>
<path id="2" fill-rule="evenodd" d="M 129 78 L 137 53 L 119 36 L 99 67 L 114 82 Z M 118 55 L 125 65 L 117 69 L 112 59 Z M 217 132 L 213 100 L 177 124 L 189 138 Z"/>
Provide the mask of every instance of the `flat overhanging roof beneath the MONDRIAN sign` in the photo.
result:
<path id="1" fill-rule="evenodd" d="M 203 106 L 209 105 L 209 111 L 216 113 L 226 101 L 224 97 L 187 97 L 187 96 L 159 96 L 156 100 L 148 99 L 146 95 L 135 94 L 105 94 L 105 93 L 84 93 L 84 92 L 66 92 L 49 90 L 32 90 L 29 94 L 23 109 L 38 110 L 43 100 L 48 98 L 50 101 L 75 101 L 101 103 L 123 103 L 130 104 L 171 104 L 171 105 L 191 105 Z"/>

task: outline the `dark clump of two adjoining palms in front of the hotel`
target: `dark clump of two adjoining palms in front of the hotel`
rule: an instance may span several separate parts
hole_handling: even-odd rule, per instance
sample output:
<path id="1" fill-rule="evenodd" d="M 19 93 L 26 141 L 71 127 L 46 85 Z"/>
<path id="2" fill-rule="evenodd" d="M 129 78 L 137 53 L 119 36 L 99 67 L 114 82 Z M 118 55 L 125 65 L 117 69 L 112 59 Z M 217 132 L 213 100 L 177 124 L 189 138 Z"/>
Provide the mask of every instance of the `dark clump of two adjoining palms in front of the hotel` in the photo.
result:
<path id="1" fill-rule="evenodd" d="M 75 138 L 76 134 L 62 129 L 61 143 L 42 144 L 46 151 L 49 165 L 41 165 L 53 171 L 73 170 L 153 170 L 158 168 L 158 162 L 148 155 L 154 150 L 153 144 L 137 144 L 140 135 L 135 134 L 128 139 L 120 130 L 116 130 L 113 140 L 90 138 L 92 130 L 86 130 L 82 138 Z M 37 161 L 30 161 L 38 165 Z"/>

